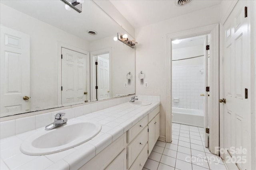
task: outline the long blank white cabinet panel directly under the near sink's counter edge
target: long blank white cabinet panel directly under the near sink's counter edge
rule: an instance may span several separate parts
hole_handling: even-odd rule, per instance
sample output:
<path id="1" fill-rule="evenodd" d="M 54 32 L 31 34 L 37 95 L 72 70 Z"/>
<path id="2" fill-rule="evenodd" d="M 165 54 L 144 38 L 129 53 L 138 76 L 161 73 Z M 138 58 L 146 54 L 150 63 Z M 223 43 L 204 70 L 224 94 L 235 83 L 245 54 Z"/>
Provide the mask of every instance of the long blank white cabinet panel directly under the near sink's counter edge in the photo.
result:
<path id="1" fill-rule="evenodd" d="M 80 168 L 80 170 L 103 170 L 118 156 L 118 154 L 126 147 L 127 134 L 120 136 L 112 144 L 102 150 L 89 162 Z"/>

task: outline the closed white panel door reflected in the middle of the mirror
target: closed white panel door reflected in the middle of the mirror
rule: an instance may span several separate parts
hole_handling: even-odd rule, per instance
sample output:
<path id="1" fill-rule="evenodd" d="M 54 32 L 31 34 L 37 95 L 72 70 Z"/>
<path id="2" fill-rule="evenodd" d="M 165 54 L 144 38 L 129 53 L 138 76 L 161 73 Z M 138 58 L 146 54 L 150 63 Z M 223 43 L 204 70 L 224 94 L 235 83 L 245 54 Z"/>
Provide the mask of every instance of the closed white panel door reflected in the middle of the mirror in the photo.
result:
<path id="1" fill-rule="evenodd" d="M 62 106 L 87 100 L 86 55 L 62 48 Z"/>

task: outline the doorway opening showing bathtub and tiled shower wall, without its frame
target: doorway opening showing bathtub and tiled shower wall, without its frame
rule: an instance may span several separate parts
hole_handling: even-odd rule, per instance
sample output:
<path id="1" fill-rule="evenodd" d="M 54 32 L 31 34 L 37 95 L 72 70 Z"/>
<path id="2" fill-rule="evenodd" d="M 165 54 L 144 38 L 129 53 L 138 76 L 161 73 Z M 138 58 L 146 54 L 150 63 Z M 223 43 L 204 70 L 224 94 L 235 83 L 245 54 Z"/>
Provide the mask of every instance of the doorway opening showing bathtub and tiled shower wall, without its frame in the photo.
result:
<path id="1" fill-rule="evenodd" d="M 173 142 L 177 142 L 179 135 L 183 142 L 191 138 L 195 139 L 195 144 L 208 147 L 204 127 L 208 128 L 210 97 L 205 90 L 208 86 L 209 37 L 200 35 L 172 41 Z"/>

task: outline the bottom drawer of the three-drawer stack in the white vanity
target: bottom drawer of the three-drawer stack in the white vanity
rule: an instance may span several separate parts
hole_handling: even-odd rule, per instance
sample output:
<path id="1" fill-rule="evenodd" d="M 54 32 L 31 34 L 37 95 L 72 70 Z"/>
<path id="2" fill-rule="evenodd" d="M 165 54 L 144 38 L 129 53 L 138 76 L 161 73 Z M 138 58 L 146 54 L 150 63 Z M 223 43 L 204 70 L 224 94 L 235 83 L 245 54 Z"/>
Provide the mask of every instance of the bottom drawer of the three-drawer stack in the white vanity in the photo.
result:
<path id="1" fill-rule="evenodd" d="M 142 170 L 144 164 L 148 159 L 148 144 L 140 152 L 139 156 L 136 158 L 129 170 Z"/>

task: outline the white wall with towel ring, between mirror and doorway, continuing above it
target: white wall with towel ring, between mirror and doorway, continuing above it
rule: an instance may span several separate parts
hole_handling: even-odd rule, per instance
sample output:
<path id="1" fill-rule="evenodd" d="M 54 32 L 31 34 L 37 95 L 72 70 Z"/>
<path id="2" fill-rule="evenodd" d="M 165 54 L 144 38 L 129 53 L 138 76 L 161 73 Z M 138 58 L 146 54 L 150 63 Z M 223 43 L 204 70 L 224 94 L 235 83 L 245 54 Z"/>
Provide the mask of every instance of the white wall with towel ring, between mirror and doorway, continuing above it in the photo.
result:
<path id="1" fill-rule="evenodd" d="M 162 137 L 165 136 L 167 93 L 166 35 L 219 23 L 219 10 L 219 6 L 214 6 L 135 30 L 136 41 L 138 42 L 136 47 L 136 74 L 142 70 L 146 74 L 144 82 L 148 82 L 148 88 L 144 88 L 139 81 L 136 81 L 136 94 L 160 96 L 160 135 Z"/>

